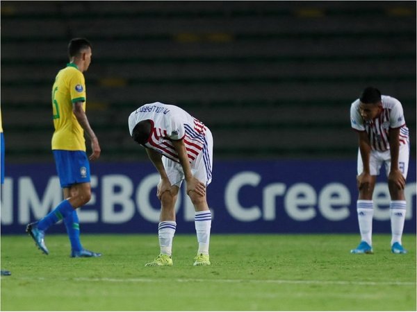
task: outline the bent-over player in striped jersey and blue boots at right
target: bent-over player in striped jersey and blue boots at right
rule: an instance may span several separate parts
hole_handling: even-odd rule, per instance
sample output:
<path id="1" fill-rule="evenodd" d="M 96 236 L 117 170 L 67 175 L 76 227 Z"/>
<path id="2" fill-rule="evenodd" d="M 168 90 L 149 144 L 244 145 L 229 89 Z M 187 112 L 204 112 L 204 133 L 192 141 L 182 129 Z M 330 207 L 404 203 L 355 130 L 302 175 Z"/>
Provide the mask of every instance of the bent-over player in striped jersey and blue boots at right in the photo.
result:
<path id="1" fill-rule="evenodd" d="M 357 214 L 361 233 L 361 243 L 351 252 L 373 253 L 373 190 L 384 164 L 391 196 L 391 251 L 407 253 L 401 238 L 406 209 L 404 187 L 409 166 L 409 130 L 402 105 L 391 96 L 382 96 L 378 89 L 367 87 L 350 107 L 350 122 L 359 136 Z"/>

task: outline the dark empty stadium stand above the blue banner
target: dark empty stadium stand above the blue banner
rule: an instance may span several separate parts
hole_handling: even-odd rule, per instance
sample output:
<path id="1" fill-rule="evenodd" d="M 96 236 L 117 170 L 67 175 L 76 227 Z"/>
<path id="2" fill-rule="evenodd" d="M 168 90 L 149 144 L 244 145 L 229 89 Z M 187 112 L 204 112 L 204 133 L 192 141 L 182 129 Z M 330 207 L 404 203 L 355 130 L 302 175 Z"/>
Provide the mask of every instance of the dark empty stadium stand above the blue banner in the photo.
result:
<path id="1" fill-rule="evenodd" d="M 51 85 L 87 37 L 101 162 L 145 159 L 127 117 L 172 103 L 211 128 L 216 159 L 355 158 L 350 104 L 403 104 L 416 155 L 415 1 L 1 1 L 7 162 L 52 162 Z"/>

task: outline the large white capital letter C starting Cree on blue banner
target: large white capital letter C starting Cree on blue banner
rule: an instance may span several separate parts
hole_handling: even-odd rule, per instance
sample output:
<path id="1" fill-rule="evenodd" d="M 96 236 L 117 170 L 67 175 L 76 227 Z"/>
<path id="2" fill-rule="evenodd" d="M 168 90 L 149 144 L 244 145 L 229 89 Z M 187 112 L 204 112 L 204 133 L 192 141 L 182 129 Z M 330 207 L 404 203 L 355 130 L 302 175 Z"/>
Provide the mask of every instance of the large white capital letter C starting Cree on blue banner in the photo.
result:
<path id="1" fill-rule="evenodd" d="M 239 221 L 254 221 L 262 216 L 259 206 L 242 207 L 238 200 L 238 193 L 244 185 L 256 187 L 261 181 L 261 175 L 251 171 L 243 171 L 232 177 L 224 193 L 224 201 L 229 214 Z"/>

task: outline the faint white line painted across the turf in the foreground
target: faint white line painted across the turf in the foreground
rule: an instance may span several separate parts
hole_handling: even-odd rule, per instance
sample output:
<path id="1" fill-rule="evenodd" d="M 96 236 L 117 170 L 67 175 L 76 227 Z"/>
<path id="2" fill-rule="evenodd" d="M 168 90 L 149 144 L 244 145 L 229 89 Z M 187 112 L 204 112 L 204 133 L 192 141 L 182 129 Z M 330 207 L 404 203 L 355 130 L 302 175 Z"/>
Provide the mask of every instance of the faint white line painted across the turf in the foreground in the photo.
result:
<path id="1" fill-rule="evenodd" d="M 10 278 L 10 277 L 8 277 Z M 13 277 L 12 277 L 13 278 Z M 3 278 L 2 278 L 3 279 Z M 28 279 L 25 277 L 18 277 L 17 279 Z M 36 278 L 35 278 L 36 279 Z M 47 280 L 44 277 L 38 277 L 38 280 Z M 60 278 L 53 278 L 54 281 Z M 34 280 L 31 278 L 31 280 Z M 109 283 L 158 283 L 166 281 L 164 279 L 152 278 L 110 278 L 110 277 L 74 277 L 62 278 L 65 281 L 106 281 Z M 305 285 L 358 285 L 358 286 L 382 286 L 382 285 L 397 285 L 397 286 L 416 286 L 414 281 L 321 281 L 321 280 L 291 280 L 291 279 L 173 279 L 178 283 L 256 283 L 256 284 L 305 284 Z"/>

